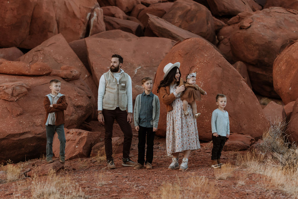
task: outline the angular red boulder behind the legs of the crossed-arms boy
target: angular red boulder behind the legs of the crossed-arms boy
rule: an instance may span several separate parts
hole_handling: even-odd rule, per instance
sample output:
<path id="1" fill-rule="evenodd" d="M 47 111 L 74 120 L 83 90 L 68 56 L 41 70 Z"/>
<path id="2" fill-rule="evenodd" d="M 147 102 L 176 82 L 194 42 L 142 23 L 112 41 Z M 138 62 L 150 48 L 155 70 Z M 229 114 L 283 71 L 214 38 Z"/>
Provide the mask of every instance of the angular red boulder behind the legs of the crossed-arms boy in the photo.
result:
<path id="1" fill-rule="evenodd" d="M 66 146 L 65 159 L 87 158 L 92 147 L 100 141 L 101 132 L 89 132 L 81 129 L 64 129 Z M 55 133 L 53 139 L 53 154 L 59 157 L 60 141 Z"/>

